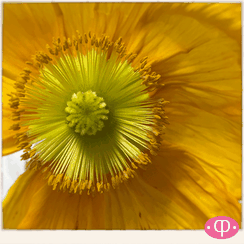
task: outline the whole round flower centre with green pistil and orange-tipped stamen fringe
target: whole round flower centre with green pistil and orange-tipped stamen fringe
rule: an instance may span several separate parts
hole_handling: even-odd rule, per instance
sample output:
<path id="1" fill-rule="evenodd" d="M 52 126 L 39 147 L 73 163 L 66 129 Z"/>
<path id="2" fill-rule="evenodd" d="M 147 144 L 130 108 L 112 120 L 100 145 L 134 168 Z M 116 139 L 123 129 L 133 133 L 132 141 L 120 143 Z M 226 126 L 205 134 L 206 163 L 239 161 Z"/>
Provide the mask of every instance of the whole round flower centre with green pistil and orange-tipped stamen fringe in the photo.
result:
<path id="1" fill-rule="evenodd" d="M 27 62 L 10 94 L 11 129 L 27 128 L 16 133 L 22 159 L 46 172 L 53 189 L 116 188 L 160 146 L 167 102 L 149 96 L 160 76 L 147 57 L 135 61 L 121 38 L 77 33 L 47 49 L 51 56 L 40 52 Z"/>

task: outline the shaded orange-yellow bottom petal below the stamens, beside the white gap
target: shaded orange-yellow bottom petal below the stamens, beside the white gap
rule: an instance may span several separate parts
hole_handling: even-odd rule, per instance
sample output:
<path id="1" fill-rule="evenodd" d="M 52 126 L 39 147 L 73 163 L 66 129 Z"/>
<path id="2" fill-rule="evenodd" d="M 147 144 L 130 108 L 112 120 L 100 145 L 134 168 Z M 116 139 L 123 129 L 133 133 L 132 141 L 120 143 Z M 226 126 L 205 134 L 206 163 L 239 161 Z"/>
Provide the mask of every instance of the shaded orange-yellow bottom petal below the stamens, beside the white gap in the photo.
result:
<path id="1" fill-rule="evenodd" d="M 191 155 L 165 144 L 148 170 L 94 198 L 53 191 L 41 171 L 27 171 L 4 201 L 4 228 L 203 229 L 216 215 L 240 223 L 236 199 Z"/>

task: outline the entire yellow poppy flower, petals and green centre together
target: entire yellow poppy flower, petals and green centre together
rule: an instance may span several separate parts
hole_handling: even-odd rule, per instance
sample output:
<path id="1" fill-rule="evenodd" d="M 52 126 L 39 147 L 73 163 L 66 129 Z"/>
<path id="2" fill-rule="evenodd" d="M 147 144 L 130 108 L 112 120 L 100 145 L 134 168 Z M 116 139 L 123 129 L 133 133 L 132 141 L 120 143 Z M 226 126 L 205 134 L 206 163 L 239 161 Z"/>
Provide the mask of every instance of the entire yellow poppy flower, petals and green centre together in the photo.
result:
<path id="1" fill-rule="evenodd" d="M 4 4 L 4 228 L 240 224 L 240 10 Z"/>

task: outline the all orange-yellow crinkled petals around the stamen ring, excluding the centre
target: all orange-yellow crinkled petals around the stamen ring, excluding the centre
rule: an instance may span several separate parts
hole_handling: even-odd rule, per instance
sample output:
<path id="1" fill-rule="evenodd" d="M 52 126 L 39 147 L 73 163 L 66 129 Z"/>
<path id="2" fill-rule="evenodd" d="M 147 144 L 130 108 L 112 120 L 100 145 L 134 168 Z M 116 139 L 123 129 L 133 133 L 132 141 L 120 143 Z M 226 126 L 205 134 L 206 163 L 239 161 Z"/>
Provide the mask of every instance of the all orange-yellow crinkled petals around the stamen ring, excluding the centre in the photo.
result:
<path id="1" fill-rule="evenodd" d="M 135 63 L 148 56 L 162 77 L 152 96 L 170 101 L 160 153 L 136 179 L 91 198 L 52 191 L 27 171 L 4 202 L 4 228 L 202 229 L 218 215 L 240 223 L 240 11 L 227 3 L 4 4 L 4 154 L 18 150 L 6 94 L 52 37 L 123 37 Z"/>

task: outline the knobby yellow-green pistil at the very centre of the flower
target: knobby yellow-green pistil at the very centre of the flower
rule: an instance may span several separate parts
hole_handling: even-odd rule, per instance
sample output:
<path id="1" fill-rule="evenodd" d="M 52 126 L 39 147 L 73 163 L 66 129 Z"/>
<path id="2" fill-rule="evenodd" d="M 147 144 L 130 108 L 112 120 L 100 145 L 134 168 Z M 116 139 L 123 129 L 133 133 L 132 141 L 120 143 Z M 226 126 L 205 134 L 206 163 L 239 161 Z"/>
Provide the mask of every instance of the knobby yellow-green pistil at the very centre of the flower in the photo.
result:
<path id="1" fill-rule="evenodd" d="M 109 113 L 104 99 L 97 97 L 92 91 L 85 93 L 78 92 L 72 95 L 71 101 L 67 102 L 65 112 L 70 127 L 75 128 L 75 132 L 80 135 L 96 135 L 104 127 L 103 120 L 107 120 Z"/>

